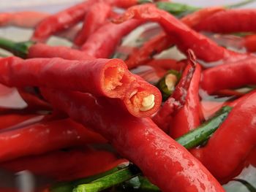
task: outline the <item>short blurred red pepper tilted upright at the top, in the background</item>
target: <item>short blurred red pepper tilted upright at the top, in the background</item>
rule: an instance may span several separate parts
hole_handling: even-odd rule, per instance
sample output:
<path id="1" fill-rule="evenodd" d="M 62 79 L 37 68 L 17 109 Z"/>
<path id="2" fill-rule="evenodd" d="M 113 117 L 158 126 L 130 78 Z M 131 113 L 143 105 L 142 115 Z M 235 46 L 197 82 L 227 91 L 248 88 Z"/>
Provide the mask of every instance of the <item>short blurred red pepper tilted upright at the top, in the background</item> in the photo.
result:
<path id="1" fill-rule="evenodd" d="M 83 20 L 83 28 L 75 37 L 75 44 L 80 46 L 94 33 L 100 26 L 106 23 L 110 15 L 111 7 L 105 3 L 96 3 L 91 6 Z"/>

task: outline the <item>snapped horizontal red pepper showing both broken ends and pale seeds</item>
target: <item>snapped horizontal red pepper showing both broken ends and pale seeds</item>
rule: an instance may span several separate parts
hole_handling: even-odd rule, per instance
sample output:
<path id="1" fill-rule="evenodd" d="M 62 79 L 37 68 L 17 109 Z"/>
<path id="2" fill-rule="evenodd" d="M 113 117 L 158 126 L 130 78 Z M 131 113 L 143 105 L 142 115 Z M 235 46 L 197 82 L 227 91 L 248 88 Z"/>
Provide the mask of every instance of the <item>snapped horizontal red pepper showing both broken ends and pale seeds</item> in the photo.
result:
<path id="1" fill-rule="evenodd" d="M 0 82 L 4 85 L 63 88 L 118 98 L 132 115 L 138 117 L 154 114 L 162 101 L 156 87 L 131 74 L 124 61 L 119 59 L 67 61 L 10 57 L 2 58 L 0 64 Z"/>

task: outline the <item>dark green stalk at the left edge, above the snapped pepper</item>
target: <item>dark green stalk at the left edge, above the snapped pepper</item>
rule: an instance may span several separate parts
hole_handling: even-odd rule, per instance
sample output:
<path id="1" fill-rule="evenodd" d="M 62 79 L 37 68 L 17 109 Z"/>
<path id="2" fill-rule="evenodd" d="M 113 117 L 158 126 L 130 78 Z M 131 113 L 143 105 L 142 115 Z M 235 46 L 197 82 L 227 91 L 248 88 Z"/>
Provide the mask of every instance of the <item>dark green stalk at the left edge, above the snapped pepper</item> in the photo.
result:
<path id="1" fill-rule="evenodd" d="M 0 38 L 0 48 L 8 50 L 20 58 L 27 57 L 31 45 L 34 45 L 34 42 L 12 42 L 9 39 Z"/>

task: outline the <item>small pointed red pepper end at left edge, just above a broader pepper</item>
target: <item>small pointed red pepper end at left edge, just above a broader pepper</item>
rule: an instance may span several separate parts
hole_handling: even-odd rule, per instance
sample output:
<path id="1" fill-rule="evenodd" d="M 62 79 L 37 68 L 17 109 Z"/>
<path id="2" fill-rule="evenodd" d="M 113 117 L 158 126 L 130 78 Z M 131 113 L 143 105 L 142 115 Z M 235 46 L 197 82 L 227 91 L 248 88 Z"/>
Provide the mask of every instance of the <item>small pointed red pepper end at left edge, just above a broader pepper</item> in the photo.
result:
<path id="1" fill-rule="evenodd" d="M 18 114 L 7 114 L 0 116 L 0 129 L 9 128 L 15 126 L 18 123 L 22 123 L 30 118 L 34 118 L 37 115 L 18 115 Z"/>

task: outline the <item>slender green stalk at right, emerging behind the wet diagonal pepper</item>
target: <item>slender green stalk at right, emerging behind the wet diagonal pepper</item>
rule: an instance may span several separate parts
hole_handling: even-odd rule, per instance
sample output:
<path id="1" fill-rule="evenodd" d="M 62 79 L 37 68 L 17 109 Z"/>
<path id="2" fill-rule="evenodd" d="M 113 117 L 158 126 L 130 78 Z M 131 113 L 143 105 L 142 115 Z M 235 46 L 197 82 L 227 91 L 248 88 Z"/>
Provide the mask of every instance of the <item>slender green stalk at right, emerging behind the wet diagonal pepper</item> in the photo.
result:
<path id="1" fill-rule="evenodd" d="M 211 134 L 219 128 L 220 124 L 227 118 L 228 113 L 232 110 L 232 107 L 222 107 L 216 115 L 214 115 L 211 120 L 206 121 L 198 128 L 193 129 L 187 134 L 176 139 L 176 141 L 186 147 L 191 149 L 192 147 L 197 147 L 198 145 L 206 142 Z"/>

